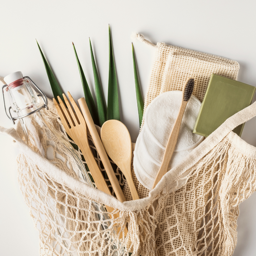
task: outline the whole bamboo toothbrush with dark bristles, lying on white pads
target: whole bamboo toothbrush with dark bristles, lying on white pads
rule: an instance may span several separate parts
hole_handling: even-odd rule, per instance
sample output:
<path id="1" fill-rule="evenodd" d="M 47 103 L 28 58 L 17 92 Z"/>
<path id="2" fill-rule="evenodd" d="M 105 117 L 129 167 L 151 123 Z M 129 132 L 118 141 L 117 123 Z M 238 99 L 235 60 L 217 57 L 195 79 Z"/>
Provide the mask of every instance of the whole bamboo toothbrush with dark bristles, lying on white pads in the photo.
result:
<path id="1" fill-rule="evenodd" d="M 152 187 L 155 188 L 157 183 L 161 180 L 162 176 L 166 174 L 168 171 L 168 165 L 171 160 L 172 154 L 174 153 L 174 149 L 177 143 L 178 139 L 178 134 L 180 131 L 180 126 L 181 126 L 181 121 L 182 117 L 185 111 L 185 108 L 187 106 L 188 100 L 190 99 L 192 92 L 194 89 L 194 79 L 189 78 L 183 87 L 183 99 L 180 107 L 180 111 L 178 113 L 178 116 L 176 118 L 176 121 L 174 123 L 174 126 L 172 127 L 171 134 L 169 136 L 169 139 L 167 141 L 166 147 L 165 147 L 165 152 L 164 152 L 164 157 L 162 159 L 162 164 L 160 166 L 160 169 L 158 171 L 158 174 L 155 177 L 154 185 Z M 192 131 L 191 131 L 192 132 Z"/>

